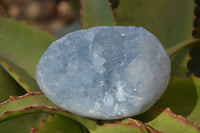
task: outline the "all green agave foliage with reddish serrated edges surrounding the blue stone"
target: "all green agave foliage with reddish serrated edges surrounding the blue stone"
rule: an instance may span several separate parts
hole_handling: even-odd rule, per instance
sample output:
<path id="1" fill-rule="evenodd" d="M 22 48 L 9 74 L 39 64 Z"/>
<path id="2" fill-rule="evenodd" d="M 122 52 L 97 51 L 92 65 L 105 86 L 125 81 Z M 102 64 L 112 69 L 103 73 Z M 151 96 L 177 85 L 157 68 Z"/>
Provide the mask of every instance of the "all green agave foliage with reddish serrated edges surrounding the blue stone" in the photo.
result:
<path id="1" fill-rule="evenodd" d="M 108 0 L 72 2 L 76 13 L 81 12 L 77 17 L 80 16 L 82 28 L 143 26 L 163 42 L 170 56 L 172 76 L 160 100 L 141 115 L 113 121 L 88 119 L 57 107 L 40 92 L 35 81 L 39 58 L 57 38 L 25 22 L 0 16 L 0 131 L 200 132 L 200 79 L 197 77 L 200 32 L 196 20 L 200 1 L 112 0 L 112 3 Z"/>

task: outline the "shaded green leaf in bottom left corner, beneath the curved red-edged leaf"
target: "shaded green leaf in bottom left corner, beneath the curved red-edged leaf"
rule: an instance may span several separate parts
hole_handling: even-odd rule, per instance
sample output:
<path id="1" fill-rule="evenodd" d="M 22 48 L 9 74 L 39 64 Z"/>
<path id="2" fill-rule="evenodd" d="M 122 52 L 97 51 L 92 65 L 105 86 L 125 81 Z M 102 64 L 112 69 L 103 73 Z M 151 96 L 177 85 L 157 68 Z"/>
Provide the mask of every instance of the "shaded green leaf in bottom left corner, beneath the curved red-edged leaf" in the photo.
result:
<path id="1" fill-rule="evenodd" d="M 16 117 L 0 123 L 2 133 L 29 133 L 31 127 L 37 127 L 40 119 L 47 119 L 48 114 L 34 113 Z"/>

